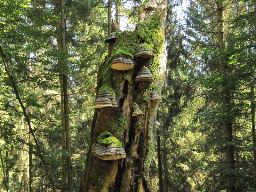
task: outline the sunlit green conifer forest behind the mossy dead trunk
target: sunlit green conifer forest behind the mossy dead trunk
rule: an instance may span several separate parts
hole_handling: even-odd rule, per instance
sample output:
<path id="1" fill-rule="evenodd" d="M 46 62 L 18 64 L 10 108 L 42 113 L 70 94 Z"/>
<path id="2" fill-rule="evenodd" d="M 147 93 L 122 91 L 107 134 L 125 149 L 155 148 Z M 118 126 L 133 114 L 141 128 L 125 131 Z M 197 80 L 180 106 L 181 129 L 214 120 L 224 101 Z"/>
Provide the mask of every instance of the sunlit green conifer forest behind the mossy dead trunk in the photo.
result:
<path id="1" fill-rule="evenodd" d="M 0 1 L 1 191 L 79 190 L 108 26 L 142 3 Z M 256 191 L 256 0 L 168 4 L 151 191 Z"/>

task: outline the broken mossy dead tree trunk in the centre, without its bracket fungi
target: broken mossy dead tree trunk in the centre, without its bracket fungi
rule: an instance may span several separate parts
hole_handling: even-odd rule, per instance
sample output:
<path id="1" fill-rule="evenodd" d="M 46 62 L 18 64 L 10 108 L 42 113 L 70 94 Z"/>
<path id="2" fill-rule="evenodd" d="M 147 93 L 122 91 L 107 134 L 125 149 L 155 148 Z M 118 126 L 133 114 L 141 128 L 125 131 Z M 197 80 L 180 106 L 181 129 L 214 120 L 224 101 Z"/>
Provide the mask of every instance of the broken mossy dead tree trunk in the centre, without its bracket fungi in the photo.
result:
<path id="1" fill-rule="evenodd" d="M 164 21 L 167 2 L 149 0 L 139 8 L 139 23 L 134 31 L 116 32 L 116 42 L 109 43 L 105 62 L 99 66 L 97 87 L 116 97 L 117 107 L 95 109 L 91 148 L 79 192 L 150 191 L 149 170 L 154 153 L 154 134 L 158 102 L 151 93 L 160 92 L 166 67 Z M 114 31 L 112 31 L 114 32 Z M 152 58 L 136 58 L 134 68 L 116 70 L 111 62 L 117 53 L 134 59 L 141 44 L 147 44 Z M 154 82 L 135 82 L 139 70 L 147 67 Z M 133 103 L 143 114 L 132 117 Z M 100 134 L 110 132 L 121 142 L 126 158 L 101 160 L 92 155 L 92 145 Z"/>

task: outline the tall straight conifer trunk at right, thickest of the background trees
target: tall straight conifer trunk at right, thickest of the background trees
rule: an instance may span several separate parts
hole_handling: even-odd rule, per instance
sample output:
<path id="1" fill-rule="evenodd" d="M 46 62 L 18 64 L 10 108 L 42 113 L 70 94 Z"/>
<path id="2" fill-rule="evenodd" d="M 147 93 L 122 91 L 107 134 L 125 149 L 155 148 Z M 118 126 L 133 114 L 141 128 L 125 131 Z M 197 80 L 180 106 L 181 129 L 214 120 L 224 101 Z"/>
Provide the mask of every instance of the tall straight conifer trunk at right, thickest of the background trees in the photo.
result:
<path id="1" fill-rule="evenodd" d="M 217 2 L 217 22 L 218 22 L 218 44 L 219 44 L 219 50 L 222 53 L 225 50 L 225 43 L 224 43 L 224 28 L 223 28 L 223 5 L 222 1 Z M 222 53 L 223 54 L 223 53 Z M 227 67 L 225 63 L 226 58 L 225 57 L 219 57 L 219 67 L 220 72 L 227 73 Z M 223 106 L 224 111 L 228 114 L 229 111 L 231 111 L 231 98 L 229 96 L 229 92 L 227 91 L 226 84 L 223 84 L 222 89 L 225 91 L 222 92 L 223 94 Z M 230 117 L 227 117 L 223 122 L 223 128 L 224 128 L 224 138 L 226 141 L 225 147 L 224 147 L 224 153 L 225 153 L 225 166 L 227 169 L 227 191 L 228 192 L 234 192 L 236 189 L 236 181 L 235 181 L 235 175 L 232 173 L 235 169 L 235 159 L 234 159 L 234 146 L 233 144 L 230 144 L 233 141 L 233 134 L 232 134 L 232 121 Z"/>

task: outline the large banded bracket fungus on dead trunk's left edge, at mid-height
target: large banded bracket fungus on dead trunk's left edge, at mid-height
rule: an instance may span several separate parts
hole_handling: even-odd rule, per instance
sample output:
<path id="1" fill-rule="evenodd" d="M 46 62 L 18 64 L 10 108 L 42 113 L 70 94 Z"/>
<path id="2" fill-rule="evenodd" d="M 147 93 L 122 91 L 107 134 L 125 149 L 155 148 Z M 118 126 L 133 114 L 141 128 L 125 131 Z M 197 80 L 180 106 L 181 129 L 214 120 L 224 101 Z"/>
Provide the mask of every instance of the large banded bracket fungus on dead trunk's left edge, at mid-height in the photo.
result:
<path id="1" fill-rule="evenodd" d="M 94 102 L 94 108 L 117 107 L 116 97 L 108 91 L 100 91 Z"/>

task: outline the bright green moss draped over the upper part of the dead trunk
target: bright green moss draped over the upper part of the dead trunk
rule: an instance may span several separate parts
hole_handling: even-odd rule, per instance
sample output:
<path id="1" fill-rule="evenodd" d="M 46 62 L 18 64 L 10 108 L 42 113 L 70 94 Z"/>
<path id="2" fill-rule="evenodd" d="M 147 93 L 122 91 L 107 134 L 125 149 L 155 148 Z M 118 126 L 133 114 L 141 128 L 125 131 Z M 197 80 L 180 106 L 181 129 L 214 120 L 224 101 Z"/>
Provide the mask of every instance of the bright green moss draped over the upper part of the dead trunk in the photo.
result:
<path id="1" fill-rule="evenodd" d="M 143 4 L 147 2 L 148 0 L 144 1 Z M 111 61 L 117 53 L 124 53 L 133 59 L 136 50 L 139 48 L 139 36 L 143 42 L 141 46 L 145 46 L 145 48 L 148 48 L 152 52 L 152 59 L 149 62 L 148 70 L 155 81 L 150 84 L 148 90 L 155 89 L 157 87 L 156 85 L 161 81 L 161 76 L 159 76 L 158 73 L 161 69 L 160 55 L 163 52 L 164 37 L 159 23 L 159 16 L 152 17 L 151 21 L 147 24 L 139 22 L 136 28 L 137 30 L 134 31 L 116 33 L 116 43 L 111 55 L 108 60 L 99 67 L 98 79 L 101 82 L 99 91 L 109 91 L 116 96 L 117 99 L 122 97 L 122 90 L 119 90 L 119 88 L 115 86 L 114 75 L 110 67 Z M 144 93 L 143 100 L 148 99 L 150 92 Z"/>

